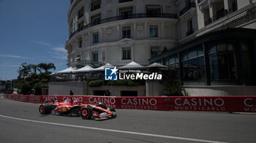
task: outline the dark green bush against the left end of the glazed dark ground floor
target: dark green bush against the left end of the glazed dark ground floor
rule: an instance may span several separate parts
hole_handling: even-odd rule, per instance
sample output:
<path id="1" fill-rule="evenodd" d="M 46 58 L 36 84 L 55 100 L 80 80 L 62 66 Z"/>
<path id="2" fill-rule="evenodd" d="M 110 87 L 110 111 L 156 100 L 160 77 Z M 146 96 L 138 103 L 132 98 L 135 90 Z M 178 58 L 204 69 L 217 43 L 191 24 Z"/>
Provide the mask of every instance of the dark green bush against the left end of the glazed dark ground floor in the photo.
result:
<path id="1" fill-rule="evenodd" d="M 163 85 L 165 85 L 165 93 L 167 93 L 167 96 L 183 96 L 182 91 L 184 90 L 181 87 L 181 81 L 180 80 L 172 80 L 167 79 L 162 82 Z"/>

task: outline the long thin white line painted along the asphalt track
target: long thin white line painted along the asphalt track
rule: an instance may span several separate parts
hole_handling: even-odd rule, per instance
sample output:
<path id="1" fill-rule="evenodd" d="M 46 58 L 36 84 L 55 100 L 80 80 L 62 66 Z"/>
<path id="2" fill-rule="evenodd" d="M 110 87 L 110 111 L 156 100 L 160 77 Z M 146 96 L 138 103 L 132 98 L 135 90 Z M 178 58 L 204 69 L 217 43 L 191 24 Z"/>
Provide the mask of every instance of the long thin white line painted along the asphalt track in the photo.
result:
<path id="1" fill-rule="evenodd" d="M 5 115 L 0 115 L 0 117 L 5 117 L 5 118 L 9 118 L 9 119 L 14 119 L 14 120 L 22 120 L 22 121 L 32 122 L 32 123 L 61 125 L 61 126 L 66 126 L 66 127 L 85 128 L 85 129 L 98 130 L 98 131 L 110 131 L 110 132 L 116 132 L 116 133 L 122 133 L 122 134 L 135 134 L 135 135 L 140 135 L 140 136 L 153 136 L 153 137 L 159 137 L 159 138 L 179 139 L 179 140 L 187 140 L 187 141 L 194 141 L 194 142 L 224 143 L 224 142 L 211 141 L 211 140 L 205 140 L 205 139 L 193 139 L 193 138 L 178 137 L 178 136 L 165 136 L 165 135 L 159 135 L 159 134 L 146 134 L 146 133 L 139 133 L 139 132 L 134 132 L 134 131 L 121 131 L 121 130 L 113 130 L 113 129 L 107 129 L 107 128 L 94 128 L 94 127 L 83 126 L 83 125 L 51 123 L 51 122 L 44 122 L 44 121 L 39 121 L 39 120 L 29 120 L 29 119 L 23 119 L 23 118 L 18 118 L 18 117 L 10 117 L 10 116 L 5 116 Z"/>

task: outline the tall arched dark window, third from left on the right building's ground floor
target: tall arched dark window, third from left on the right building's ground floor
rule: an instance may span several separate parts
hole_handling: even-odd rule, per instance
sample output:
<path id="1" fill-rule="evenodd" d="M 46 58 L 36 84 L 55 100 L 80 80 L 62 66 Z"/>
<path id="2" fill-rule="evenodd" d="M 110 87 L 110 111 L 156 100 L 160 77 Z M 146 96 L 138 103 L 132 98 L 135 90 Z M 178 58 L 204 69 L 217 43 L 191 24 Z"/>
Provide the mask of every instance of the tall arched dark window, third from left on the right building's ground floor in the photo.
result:
<path id="1" fill-rule="evenodd" d="M 208 49 L 211 80 L 238 80 L 237 58 L 233 45 L 221 43 Z"/>

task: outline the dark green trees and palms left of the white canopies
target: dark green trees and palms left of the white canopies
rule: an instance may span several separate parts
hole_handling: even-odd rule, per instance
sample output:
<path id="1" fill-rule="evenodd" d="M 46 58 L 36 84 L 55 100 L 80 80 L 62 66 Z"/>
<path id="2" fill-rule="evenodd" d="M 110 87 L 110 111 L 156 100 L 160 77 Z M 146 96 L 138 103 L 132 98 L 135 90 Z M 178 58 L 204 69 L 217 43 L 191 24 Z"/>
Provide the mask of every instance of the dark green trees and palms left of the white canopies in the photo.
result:
<path id="1" fill-rule="evenodd" d="M 39 65 L 51 65 L 44 69 Z M 53 68 L 54 67 L 54 68 Z M 15 88 L 21 89 L 22 94 L 31 94 L 31 90 L 34 89 L 35 95 L 41 94 L 41 86 L 47 85 L 49 82 L 48 75 L 51 73 L 49 69 L 55 69 L 53 63 L 39 63 L 38 65 L 22 63 L 18 69 L 18 80 L 15 83 Z M 39 74 L 37 73 L 39 71 Z"/>

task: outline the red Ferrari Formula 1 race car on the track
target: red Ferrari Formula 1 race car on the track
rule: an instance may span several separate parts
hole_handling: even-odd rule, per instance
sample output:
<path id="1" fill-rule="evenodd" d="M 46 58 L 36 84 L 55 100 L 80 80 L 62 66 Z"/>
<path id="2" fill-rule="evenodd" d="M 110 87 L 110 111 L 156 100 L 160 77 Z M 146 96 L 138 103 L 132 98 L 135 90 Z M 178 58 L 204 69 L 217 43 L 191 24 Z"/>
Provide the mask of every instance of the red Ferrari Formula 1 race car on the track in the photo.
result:
<path id="1" fill-rule="evenodd" d="M 73 101 L 72 98 L 65 101 L 50 99 L 44 101 L 39 106 L 41 115 L 65 115 L 65 116 L 81 116 L 83 119 L 108 119 L 116 117 L 116 110 L 113 107 L 109 109 L 105 104 L 79 104 L 78 101 Z"/>

